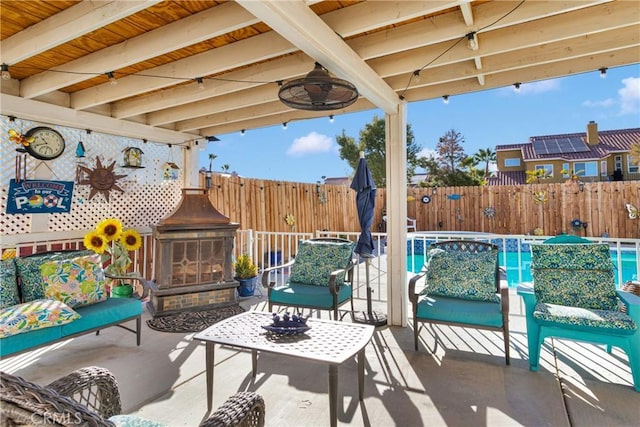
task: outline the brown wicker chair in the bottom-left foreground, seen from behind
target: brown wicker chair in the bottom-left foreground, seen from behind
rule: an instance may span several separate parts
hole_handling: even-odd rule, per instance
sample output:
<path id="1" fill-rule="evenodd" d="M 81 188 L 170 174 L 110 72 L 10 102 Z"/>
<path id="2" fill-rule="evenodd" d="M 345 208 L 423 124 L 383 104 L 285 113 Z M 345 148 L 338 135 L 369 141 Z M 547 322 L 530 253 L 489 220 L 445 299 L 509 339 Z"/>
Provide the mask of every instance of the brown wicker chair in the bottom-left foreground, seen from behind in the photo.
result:
<path id="1" fill-rule="evenodd" d="M 0 426 L 115 426 L 121 411 L 115 377 L 107 369 L 78 369 L 46 387 L 0 373 Z M 263 426 L 264 401 L 253 392 L 231 396 L 200 426 Z"/>

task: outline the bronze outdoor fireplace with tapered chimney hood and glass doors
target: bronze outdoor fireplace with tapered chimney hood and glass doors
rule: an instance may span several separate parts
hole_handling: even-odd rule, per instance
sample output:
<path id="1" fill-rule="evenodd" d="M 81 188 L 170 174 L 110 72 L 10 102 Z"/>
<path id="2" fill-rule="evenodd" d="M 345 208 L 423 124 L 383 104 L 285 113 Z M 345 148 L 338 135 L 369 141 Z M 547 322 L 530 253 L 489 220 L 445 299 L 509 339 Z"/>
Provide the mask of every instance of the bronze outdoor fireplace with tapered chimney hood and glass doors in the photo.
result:
<path id="1" fill-rule="evenodd" d="M 154 316 L 236 302 L 233 245 L 239 224 L 209 201 L 207 190 L 185 188 L 176 210 L 152 227 L 156 244 L 149 310 Z"/>

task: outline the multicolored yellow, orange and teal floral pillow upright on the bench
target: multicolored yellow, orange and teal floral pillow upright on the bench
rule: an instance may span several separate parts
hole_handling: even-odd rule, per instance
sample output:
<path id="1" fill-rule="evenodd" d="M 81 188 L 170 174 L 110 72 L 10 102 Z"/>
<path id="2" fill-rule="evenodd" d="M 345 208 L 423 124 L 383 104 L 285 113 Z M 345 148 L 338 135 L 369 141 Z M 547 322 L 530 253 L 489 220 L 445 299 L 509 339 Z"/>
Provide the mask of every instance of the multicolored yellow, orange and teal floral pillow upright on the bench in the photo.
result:
<path id="1" fill-rule="evenodd" d="M 107 299 L 100 255 L 93 254 L 66 261 L 49 261 L 40 266 L 46 298 L 69 307 L 90 305 Z"/>

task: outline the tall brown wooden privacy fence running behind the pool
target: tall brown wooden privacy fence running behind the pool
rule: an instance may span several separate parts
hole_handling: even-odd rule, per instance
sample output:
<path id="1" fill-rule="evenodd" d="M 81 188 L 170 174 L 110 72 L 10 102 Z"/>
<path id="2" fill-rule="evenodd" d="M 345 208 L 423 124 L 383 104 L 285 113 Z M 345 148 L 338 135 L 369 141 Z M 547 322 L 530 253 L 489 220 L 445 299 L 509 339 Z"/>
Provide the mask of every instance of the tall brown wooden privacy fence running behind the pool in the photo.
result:
<path id="1" fill-rule="evenodd" d="M 427 197 L 424 197 L 427 196 Z M 261 231 L 359 231 L 355 191 L 348 185 L 306 184 L 214 175 L 209 198 L 242 229 Z M 640 181 L 531 184 L 522 186 L 407 189 L 407 213 L 418 230 L 499 234 L 607 234 L 640 238 Z M 383 231 L 386 192 L 379 188 L 372 231 Z M 287 215 L 295 224 L 288 225 Z M 572 226 L 579 219 L 585 228 Z"/>

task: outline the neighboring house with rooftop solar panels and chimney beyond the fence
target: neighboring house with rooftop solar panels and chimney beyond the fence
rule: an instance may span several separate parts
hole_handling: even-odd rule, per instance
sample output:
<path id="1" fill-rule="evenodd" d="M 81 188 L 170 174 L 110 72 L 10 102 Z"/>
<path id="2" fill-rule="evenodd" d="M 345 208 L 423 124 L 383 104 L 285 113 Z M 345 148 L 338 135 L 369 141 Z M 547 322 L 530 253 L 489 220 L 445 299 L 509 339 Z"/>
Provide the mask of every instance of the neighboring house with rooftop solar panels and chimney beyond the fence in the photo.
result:
<path id="1" fill-rule="evenodd" d="M 587 132 L 533 136 L 528 143 L 498 145 L 495 148 L 498 172 L 489 185 L 526 183 L 526 171 L 543 169 L 543 182 L 563 182 L 569 171 L 582 181 L 629 181 L 640 179 L 638 165 L 632 163 L 630 148 L 640 143 L 640 128 L 598 132 L 589 122 Z"/>

